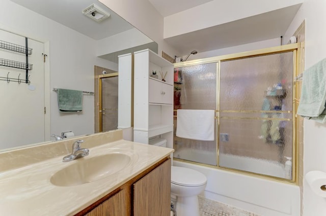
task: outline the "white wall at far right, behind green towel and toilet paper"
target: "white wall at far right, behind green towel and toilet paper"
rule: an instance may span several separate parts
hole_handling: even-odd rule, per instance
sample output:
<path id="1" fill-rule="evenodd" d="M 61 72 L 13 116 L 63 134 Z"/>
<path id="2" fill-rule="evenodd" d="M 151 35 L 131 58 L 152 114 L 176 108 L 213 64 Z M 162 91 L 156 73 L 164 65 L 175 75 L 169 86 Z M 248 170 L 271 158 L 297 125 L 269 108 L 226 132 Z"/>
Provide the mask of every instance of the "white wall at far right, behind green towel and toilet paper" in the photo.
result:
<path id="1" fill-rule="evenodd" d="M 306 20 L 305 68 L 309 68 L 326 57 L 326 1 L 306 0 L 288 31 L 285 41 Z M 304 175 L 312 170 L 326 172 L 326 125 L 304 120 Z M 303 215 L 326 215 L 326 199 L 315 195 L 304 179 Z M 326 182 L 324 183 L 326 184 Z"/>

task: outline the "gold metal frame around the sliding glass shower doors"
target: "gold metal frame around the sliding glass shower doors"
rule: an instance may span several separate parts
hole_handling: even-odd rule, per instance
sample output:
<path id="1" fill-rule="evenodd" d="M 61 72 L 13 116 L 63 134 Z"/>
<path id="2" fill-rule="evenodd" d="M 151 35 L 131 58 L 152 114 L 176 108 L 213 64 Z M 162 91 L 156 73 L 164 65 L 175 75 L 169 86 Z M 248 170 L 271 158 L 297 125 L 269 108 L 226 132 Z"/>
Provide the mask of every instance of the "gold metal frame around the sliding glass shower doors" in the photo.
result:
<path id="1" fill-rule="evenodd" d="M 206 166 L 206 167 L 213 167 L 217 169 L 222 169 L 222 170 L 228 170 L 228 171 L 233 171 L 241 174 L 247 174 L 251 175 L 254 177 L 262 177 L 262 178 L 267 178 L 267 179 L 273 179 L 273 180 L 278 180 L 281 182 L 289 182 L 289 183 L 294 183 L 298 184 L 298 170 L 299 170 L 299 163 L 298 163 L 298 158 L 299 158 L 299 146 L 298 143 L 299 137 L 297 136 L 298 134 L 298 124 L 299 120 L 297 119 L 296 116 L 296 111 L 297 111 L 297 106 L 298 106 L 298 99 L 300 95 L 298 95 L 298 86 L 300 84 L 296 84 L 295 77 L 298 75 L 298 68 L 300 67 L 298 64 L 300 64 L 300 43 L 294 43 L 294 44 L 287 44 L 287 45 L 281 45 L 281 46 L 275 46 L 275 47 L 268 47 L 268 48 L 263 48 L 263 49 L 257 49 L 257 50 L 251 50 L 251 51 L 246 51 L 246 52 L 239 52 L 239 53 L 232 53 L 229 55 L 223 55 L 223 56 L 216 56 L 216 57 L 210 57 L 210 58 L 205 58 L 205 59 L 198 59 L 198 60 L 192 60 L 192 61 L 187 61 L 187 62 L 179 62 L 179 63 L 174 63 L 174 68 L 179 68 L 179 67 L 184 67 L 184 66 L 193 66 L 193 65 L 199 65 L 199 64 L 207 64 L 207 63 L 216 63 L 218 66 L 218 74 L 216 74 L 216 166 L 215 165 L 207 165 L 207 164 L 202 164 L 198 163 L 195 161 L 191 160 L 185 160 L 185 159 L 179 159 L 179 158 L 173 158 L 175 160 L 179 161 L 185 161 L 187 163 L 192 163 L 192 164 L 197 164 L 201 166 Z M 253 57 L 259 57 L 259 56 L 266 56 L 266 55 L 273 55 L 277 53 L 282 53 L 282 52 L 293 52 L 293 79 L 292 79 L 292 87 L 293 87 L 293 94 L 292 94 L 292 165 L 294 166 L 293 172 L 292 172 L 292 179 L 285 179 L 285 178 L 280 178 L 280 177 L 275 177 L 275 176 L 269 176 L 269 175 L 264 175 L 264 174 L 259 174 L 259 173 L 252 173 L 248 171 L 241 171 L 237 169 L 232 169 L 232 168 L 225 168 L 225 167 L 220 167 L 219 165 L 219 149 L 220 149 L 220 136 L 219 136 L 219 127 L 220 127 L 220 63 L 224 61 L 231 61 L 231 60 L 238 60 L 238 59 L 246 59 L 246 58 L 253 58 Z M 176 110 L 174 110 L 176 111 Z"/>

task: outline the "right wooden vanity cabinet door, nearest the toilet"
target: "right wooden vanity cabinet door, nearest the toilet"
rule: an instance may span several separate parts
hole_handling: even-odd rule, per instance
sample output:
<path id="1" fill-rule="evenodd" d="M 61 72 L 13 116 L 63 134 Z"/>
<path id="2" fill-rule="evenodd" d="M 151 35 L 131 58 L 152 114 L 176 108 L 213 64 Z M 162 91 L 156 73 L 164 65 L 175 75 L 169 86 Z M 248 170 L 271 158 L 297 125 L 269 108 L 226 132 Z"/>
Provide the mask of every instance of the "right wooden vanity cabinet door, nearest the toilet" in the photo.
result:
<path id="1" fill-rule="evenodd" d="M 170 216 L 171 158 L 133 184 L 134 216 Z"/>

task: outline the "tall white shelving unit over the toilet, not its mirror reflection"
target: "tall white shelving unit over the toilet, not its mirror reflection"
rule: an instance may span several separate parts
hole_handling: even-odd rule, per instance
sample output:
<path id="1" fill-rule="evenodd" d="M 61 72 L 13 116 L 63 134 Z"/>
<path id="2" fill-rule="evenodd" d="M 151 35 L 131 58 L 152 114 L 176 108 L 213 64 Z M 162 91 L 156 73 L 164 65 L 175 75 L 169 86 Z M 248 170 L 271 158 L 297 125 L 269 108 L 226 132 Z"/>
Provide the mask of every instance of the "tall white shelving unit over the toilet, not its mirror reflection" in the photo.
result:
<path id="1" fill-rule="evenodd" d="M 158 79 L 151 77 L 157 71 Z M 159 73 L 167 73 L 165 82 Z M 167 140 L 173 147 L 173 64 L 149 49 L 134 52 L 133 140 Z"/>

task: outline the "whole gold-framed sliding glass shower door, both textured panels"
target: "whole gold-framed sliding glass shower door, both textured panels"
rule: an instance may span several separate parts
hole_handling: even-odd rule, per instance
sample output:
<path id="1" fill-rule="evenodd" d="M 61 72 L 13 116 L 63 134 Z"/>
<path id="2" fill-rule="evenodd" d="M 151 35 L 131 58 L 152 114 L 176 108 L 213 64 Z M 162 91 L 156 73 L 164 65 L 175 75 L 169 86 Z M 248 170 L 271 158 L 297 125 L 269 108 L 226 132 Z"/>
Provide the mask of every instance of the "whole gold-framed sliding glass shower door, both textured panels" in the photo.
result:
<path id="1" fill-rule="evenodd" d="M 174 158 L 296 181 L 296 58 L 290 44 L 176 63 Z M 214 141 L 178 137 L 180 109 L 215 110 Z"/>

